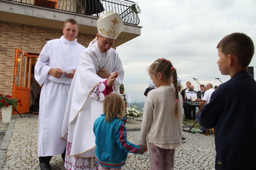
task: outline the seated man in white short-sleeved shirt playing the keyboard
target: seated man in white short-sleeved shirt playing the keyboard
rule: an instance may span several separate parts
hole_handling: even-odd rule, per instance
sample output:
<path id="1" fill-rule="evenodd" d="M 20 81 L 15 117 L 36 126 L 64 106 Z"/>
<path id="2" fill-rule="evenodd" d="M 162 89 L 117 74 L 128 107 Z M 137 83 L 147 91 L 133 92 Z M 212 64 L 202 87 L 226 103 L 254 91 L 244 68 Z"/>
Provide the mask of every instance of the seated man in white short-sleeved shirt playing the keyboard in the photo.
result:
<path id="1" fill-rule="evenodd" d="M 196 112 L 197 122 L 199 123 L 199 125 L 201 126 L 201 129 L 202 129 L 202 132 L 199 132 L 200 134 L 205 134 L 206 130 L 207 130 L 207 128 L 203 127 L 200 123 L 201 110 L 202 110 L 204 104 L 208 104 L 210 102 L 211 95 L 212 95 L 213 92 L 214 92 L 214 90 L 213 90 L 212 84 L 208 83 L 208 84 L 205 85 L 205 93 L 204 93 L 203 98 L 202 99 L 200 99 L 200 98 L 196 99 L 196 102 L 201 102 L 200 106 L 199 106 L 199 111 Z"/>

